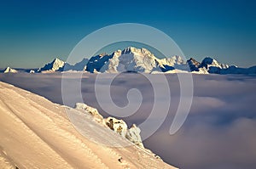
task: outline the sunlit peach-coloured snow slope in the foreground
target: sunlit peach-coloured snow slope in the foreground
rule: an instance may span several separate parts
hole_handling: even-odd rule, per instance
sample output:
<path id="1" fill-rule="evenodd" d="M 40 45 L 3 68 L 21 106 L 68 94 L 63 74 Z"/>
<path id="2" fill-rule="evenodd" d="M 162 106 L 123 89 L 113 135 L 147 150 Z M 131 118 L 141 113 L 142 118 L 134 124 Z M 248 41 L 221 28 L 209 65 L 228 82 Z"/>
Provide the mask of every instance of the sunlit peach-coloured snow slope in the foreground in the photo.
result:
<path id="1" fill-rule="evenodd" d="M 84 121 L 90 138 L 128 142 L 89 115 L 77 110 L 73 115 Z M 77 132 L 64 106 L 3 82 L 0 116 L 0 168 L 175 168 L 135 145 L 96 144 Z"/>

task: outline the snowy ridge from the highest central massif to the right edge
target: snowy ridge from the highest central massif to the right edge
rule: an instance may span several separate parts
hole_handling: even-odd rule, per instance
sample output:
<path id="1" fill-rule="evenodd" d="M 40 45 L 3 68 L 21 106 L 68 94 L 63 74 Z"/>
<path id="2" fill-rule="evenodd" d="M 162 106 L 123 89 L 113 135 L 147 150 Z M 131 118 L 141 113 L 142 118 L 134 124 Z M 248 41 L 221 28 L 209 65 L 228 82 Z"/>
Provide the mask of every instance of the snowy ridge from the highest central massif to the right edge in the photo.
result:
<path id="1" fill-rule="evenodd" d="M 198 74 L 256 74 L 255 68 L 239 68 L 236 66 L 218 63 L 216 59 L 206 57 L 201 62 L 191 58 L 184 60 L 181 56 L 158 59 L 146 48 L 129 47 L 117 50 L 113 54 L 99 54 L 91 57 L 84 65 L 84 70 L 90 73 L 105 72 L 116 73 L 131 72 L 172 72 L 182 70 Z"/>

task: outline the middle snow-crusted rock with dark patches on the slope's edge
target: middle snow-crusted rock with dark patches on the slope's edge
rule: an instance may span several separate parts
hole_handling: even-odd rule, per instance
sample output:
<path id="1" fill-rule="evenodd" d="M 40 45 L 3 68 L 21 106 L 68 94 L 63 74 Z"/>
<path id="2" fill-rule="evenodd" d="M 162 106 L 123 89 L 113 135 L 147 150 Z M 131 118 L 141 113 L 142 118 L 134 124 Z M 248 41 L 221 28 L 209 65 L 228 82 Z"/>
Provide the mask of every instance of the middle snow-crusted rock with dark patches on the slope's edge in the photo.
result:
<path id="1" fill-rule="evenodd" d="M 119 133 L 122 137 L 125 138 L 127 132 L 127 125 L 125 121 L 118 120 L 114 117 L 108 117 L 107 119 L 104 119 L 104 121 L 111 130 Z"/>

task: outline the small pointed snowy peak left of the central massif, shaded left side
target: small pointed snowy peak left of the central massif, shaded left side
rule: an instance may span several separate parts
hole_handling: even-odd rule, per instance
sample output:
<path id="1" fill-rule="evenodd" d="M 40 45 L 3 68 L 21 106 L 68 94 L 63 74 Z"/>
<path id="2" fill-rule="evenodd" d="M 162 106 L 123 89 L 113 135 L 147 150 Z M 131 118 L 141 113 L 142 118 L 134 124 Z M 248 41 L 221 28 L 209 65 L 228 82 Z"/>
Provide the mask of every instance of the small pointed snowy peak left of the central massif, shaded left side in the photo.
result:
<path id="1" fill-rule="evenodd" d="M 65 62 L 61 59 L 54 59 L 49 64 L 44 65 L 44 67 L 40 68 L 38 72 L 54 72 L 54 71 L 62 71 L 64 70 Z"/>

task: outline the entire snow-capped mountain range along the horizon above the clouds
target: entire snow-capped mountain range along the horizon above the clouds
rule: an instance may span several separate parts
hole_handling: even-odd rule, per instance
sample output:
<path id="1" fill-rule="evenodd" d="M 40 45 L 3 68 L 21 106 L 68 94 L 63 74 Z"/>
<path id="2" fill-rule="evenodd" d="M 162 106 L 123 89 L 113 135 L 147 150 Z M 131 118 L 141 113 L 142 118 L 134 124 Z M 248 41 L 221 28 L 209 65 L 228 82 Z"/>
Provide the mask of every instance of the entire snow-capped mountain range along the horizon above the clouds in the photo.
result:
<path id="1" fill-rule="evenodd" d="M 29 73 L 51 73 L 62 71 L 88 71 L 90 73 L 118 73 L 118 72 L 141 72 L 141 73 L 177 73 L 191 72 L 197 74 L 256 74 L 256 66 L 240 68 L 236 65 L 224 65 L 216 59 L 207 57 L 201 62 L 190 58 L 183 59 L 181 56 L 159 59 L 146 48 L 125 48 L 114 51 L 113 54 L 98 54 L 90 59 L 84 58 L 75 65 L 70 65 L 61 59 L 41 68 L 33 70 L 15 70 L 6 68 L 4 73 L 26 71 Z"/>

